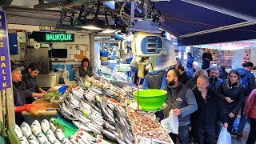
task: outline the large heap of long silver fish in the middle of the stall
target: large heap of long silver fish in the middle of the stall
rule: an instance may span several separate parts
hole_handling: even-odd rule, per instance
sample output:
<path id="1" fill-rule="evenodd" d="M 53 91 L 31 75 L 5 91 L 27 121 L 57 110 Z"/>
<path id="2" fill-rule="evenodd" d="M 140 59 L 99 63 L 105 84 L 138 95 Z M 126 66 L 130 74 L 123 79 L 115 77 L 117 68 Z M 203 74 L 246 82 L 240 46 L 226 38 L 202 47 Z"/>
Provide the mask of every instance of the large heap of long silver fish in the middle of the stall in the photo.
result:
<path id="1" fill-rule="evenodd" d="M 73 122 L 74 126 L 91 131 L 95 137 L 102 135 L 103 138 L 117 143 L 133 143 L 130 122 L 126 110 L 113 102 L 111 98 L 103 96 L 110 91 L 102 90 L 91 85 L 86 90 L 82 86 L 72 89 L 64 98 L 58 114 L 66 120 Z M 112 94 L 110 94 L 112 95 Z M 79 133 L 81 134 L 81 133 Z M 95 143 L 96 138 L 83 137 L 77 134 L 71 142 Z"/>

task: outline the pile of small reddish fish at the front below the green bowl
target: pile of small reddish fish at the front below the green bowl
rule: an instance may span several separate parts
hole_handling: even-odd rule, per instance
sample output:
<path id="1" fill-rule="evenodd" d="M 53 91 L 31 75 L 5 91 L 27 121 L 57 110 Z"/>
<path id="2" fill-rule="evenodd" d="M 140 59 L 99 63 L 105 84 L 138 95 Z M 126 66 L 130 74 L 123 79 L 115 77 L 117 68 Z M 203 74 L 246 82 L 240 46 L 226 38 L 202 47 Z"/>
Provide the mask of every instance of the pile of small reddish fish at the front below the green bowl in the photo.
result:
<path id="1" fill-rule="evenodd" d="M 170 136 L 155 119 L 148 118 L 140 111 L 127 110 L 135 143 L 171 143 Z"/>

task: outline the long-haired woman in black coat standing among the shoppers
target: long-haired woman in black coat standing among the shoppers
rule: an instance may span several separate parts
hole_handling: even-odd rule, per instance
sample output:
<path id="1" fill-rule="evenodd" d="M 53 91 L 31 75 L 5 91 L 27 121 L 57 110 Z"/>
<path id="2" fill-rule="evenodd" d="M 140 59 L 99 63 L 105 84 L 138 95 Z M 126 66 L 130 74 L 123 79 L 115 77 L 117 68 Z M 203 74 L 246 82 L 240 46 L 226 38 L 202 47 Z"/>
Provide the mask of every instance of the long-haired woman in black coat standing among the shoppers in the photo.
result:
<path id="1" fill-rule="evenodd" d="M 238 114 L 238 110 L 241 109 L 244 95 L 238 70 L 230 70 L 227 80 L 222 82 L 217 92 L 222 110 L 229 120 L 228 131 L 231 132 L 234 119 Z"/>

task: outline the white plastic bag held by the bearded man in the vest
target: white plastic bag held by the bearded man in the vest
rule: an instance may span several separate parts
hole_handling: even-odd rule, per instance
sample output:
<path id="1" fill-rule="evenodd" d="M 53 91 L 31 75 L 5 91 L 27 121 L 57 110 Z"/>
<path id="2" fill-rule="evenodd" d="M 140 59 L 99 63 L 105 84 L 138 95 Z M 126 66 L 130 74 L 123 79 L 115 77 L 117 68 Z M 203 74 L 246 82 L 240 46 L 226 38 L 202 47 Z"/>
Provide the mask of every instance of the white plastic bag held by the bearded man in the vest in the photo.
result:
<path id="1" fill-rule="evenodd" d="M 178 134 L 178 116 L 170 110 L 169 117 L 161 121 L 161 126 L 166 133 Z"/>

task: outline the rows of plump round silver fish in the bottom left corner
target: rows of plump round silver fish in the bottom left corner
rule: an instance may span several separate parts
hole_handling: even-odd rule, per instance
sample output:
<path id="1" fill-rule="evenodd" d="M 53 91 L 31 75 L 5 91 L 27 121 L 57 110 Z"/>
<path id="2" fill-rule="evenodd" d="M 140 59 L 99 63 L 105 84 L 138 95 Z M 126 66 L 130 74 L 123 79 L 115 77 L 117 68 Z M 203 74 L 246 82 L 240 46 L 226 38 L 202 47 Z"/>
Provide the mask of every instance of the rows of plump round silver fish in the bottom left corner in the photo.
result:
<path id="1" fill-rule="evenodd" d="M 14 125 L 14 131 L 22 144 L 72 144 L 62 130 L 56 129 L 53 122 L 46 119 L 41 123 L 35 120 L 31 126 L 22 122 L 20 127 Z"/>

